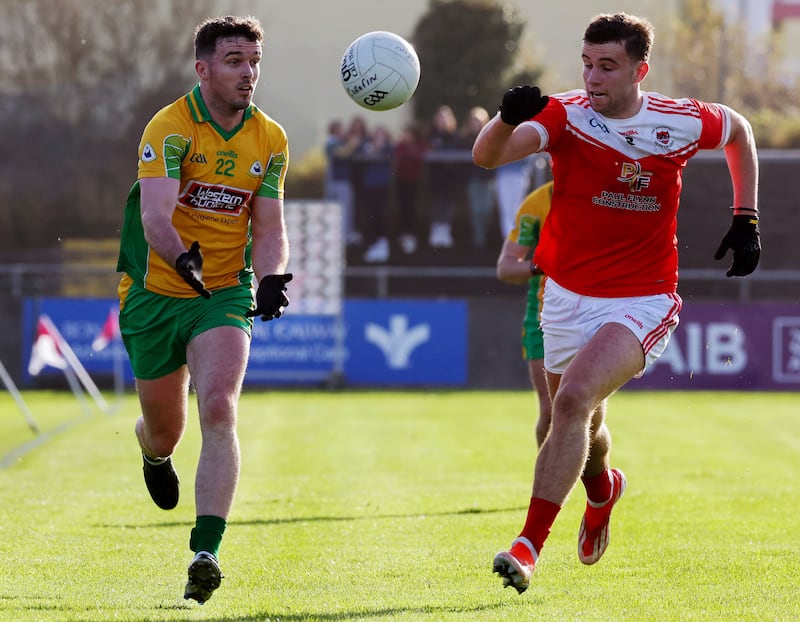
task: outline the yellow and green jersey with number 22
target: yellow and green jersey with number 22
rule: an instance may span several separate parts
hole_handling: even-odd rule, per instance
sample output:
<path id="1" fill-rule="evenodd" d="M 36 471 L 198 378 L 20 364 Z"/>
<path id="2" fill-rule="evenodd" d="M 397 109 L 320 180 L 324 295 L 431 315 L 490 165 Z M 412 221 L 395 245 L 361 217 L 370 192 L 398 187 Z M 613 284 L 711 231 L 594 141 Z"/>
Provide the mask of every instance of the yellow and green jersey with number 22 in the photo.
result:
<path id="1" fill-rule="evenodd" d="M 165 296 L 197 295 L 147 244 L 139 180 L 180 180 L 172 222 L 186 248 L 200 242 L 203 280 L 213 291 L 252 282 L 253 199 L 283 199 L 288 162 L 286 132 L 255 105 L 230 132 L 212 121 L 199 85 L 162 108 L 142 134 L 138 179 L 125 206 L 117 261 L 117 271 L 125 273 L 119 285 L 121 300 L 133 283 Z"/>

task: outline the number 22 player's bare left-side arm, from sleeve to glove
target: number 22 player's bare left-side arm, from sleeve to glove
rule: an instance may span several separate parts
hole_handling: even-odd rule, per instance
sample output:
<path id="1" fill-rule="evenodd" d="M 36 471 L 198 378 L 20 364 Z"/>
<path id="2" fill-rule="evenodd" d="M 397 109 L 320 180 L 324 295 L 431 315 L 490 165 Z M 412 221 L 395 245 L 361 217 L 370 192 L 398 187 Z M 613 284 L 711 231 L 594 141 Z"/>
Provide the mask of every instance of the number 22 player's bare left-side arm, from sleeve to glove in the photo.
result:
<path id="1" fill-rule="evenodd" d="M 139 180 L 142 228 L 147 244 L 167 265 L 187 248 L 172 224 L 178 202 L 180 181 L 171 177 L 145 177 Z"/>

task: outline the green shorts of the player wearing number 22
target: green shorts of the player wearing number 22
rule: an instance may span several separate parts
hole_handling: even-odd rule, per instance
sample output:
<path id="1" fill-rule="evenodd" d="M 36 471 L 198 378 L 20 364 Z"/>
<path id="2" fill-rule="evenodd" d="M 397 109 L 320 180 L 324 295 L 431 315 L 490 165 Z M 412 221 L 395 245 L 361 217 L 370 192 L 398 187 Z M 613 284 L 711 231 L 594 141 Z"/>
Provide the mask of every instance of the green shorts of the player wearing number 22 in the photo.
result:
<path id="1" fill-rule="evenodd" d="M 131 286 L 119 314 L 119 329 L 133 374 L 142 380 L 161 378 L 186 364 L 193 337 L 217 326 L 238 326 L 248 337 L 253 320 L 249 285 L 214 291 L 211 298 L 172 298 Z"/>

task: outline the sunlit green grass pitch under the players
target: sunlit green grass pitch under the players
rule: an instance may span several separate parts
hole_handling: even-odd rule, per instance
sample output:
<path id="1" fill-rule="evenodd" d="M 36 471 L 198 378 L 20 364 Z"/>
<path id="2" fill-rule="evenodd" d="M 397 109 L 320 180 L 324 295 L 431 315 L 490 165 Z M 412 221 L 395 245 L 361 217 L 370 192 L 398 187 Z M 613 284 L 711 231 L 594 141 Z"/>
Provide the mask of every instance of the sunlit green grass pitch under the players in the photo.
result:
<path id="1" fill-rule="evenodd" d="M 45 442 L 0 394 L 0 620 L 496 621 L 800 618 L 800 397 L 612 398 L 629 487 L 603 560 L 583 566 L 576 489 L 530 589 L 491 573 L 524 520 L 535 458 L 526 392 L 265 392 L 240 408 L 242 478 L 226 578 L 182 598 L 196 417 L 182 499 L 147 496 L 128 395 L 87 417 L 26 393 Z M 11 456 L 11 458 L 9 458 Z"/>

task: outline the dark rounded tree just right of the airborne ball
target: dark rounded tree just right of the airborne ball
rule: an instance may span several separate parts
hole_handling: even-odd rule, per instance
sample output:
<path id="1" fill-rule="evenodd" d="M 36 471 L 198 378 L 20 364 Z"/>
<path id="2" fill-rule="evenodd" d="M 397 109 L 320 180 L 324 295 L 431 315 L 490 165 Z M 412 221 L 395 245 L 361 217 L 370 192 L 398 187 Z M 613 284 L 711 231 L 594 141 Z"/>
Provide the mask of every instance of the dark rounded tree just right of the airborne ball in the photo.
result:
<path id="1" fill-rule="evenodd" d="M 428 122 L 442 104 L 459 119 L 474 106 L 494 111 L 510 86 L 539 82 L 520 46 L 525 25 L 510 2 L 430 0 L 411 36 L 424 67 L 414 117 Z"/>

